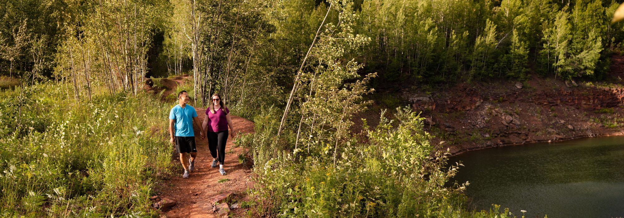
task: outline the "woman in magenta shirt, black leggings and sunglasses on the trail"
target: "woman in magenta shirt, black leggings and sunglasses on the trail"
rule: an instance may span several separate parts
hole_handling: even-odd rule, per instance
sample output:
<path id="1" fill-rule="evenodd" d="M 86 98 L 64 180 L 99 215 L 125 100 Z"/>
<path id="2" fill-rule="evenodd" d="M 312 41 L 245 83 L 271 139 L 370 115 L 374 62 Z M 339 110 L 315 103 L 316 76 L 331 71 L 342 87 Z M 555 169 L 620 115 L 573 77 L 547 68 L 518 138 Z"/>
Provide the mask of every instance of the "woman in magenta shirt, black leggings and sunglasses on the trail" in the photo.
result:
<path id="1" fill-rule="evenodd" d="M 225 143 L 228 140 L 228 126 L 230 126 L 230 136 L 236 137 L 230 110 L 223 105 L 221 95 L 212 95 L 212 102 L 206 110 L 203 118 L 202 128 L 208 130 L 208 148 L 212 154 L 212 167 L 219 162 L 219 173 L 225 175 L 223 161 L 225 161 Z"/>

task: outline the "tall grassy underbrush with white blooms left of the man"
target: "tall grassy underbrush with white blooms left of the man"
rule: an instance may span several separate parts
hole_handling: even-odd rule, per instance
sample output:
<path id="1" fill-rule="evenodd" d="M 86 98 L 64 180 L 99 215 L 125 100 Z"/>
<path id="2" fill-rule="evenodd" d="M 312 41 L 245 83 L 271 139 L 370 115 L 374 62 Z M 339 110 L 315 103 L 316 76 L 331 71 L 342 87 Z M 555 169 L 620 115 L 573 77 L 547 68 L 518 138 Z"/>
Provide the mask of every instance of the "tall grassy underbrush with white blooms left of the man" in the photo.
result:
<path id="1" fill-rule="evenodd" d="M 170 107 L 147 94 L 66 97 L 53 83 L 0 92 L 0 216 L 154 214 Z"/>

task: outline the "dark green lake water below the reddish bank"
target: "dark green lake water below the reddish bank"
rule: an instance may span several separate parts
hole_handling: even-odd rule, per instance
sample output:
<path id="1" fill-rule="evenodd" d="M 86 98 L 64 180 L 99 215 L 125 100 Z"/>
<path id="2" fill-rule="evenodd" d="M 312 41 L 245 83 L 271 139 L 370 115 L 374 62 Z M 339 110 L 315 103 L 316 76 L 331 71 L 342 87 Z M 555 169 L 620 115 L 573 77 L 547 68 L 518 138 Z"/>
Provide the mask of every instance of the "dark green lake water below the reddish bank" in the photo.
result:
<path id="1" fill-rule="evenodd" d="M 624 217 L 624 136 L 587 138 L 469 151 L 449 163 L 465 165 L 469 209 L 492 204 L 527 217 Z M 502 211 L 502 209 L 501 209 Z"/>

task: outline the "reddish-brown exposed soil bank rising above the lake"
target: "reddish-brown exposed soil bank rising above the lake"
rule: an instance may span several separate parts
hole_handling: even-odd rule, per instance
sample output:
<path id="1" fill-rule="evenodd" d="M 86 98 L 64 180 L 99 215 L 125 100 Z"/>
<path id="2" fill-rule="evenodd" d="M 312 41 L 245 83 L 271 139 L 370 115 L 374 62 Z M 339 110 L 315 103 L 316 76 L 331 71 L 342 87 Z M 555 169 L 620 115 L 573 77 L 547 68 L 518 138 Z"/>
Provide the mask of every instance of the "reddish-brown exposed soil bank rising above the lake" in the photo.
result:
<path id="1" fill-rule="evenodd" d="M 459 83 L 445 90 L 383 90 L 426 117 L 425 128 L 451 154 L 497 146 L 624 134 L 624 57 L 613 57 L 605 82 Z"/>

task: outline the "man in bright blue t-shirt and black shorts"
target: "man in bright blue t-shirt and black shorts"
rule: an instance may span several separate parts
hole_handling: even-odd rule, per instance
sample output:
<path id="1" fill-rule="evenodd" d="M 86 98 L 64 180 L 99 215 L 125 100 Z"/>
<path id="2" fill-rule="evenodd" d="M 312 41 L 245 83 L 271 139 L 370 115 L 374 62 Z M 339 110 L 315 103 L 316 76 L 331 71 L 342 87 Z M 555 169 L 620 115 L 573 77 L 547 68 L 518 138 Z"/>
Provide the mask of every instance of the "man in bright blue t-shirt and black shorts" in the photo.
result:
<path id="1" fill-rule="evenodd" d="M 171 108 L 171 111 L 169 112 L 170 142 L 175 145 L 175 152 L 180 154 L 180 162 L 182 162 L 182 167 L 184 168 L 182 178 L 188 178 L 188 173 L 195 170 L 197 148 L 195 148 L 193 122 L 195 122 L 195 125 L 197 125 L 200 129 L 202 128 L 202 125 L 200 125 L 200 121 L 197 118 L 195 108 L 187 105 L 189 100 L 187 91 L 178 93 L 178 105 Z M 202 137 L 203 132 L 203 129 L 199 132 Z M 191 154 L 191 157 L 188 158 L 188 166 L 187 153 Z"/>

